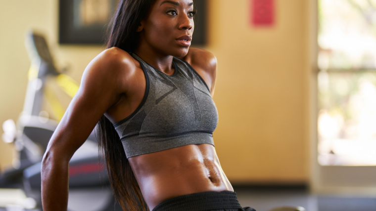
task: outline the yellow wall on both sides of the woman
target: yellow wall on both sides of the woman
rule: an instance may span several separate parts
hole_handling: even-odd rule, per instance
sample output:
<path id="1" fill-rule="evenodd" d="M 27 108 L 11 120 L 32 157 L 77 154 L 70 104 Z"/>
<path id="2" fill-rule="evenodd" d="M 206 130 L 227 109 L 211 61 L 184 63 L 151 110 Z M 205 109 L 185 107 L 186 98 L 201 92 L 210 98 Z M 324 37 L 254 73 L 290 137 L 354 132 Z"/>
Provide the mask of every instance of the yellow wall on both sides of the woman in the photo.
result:
<path id="1" fill-rule="evenodd" d="M 249 24 L 250 0 L 210 0 L 208 45 L 218 59 L 216 149 L 233 182 L 308 180 L 307 3 L 276 0 L 276 24 Z M 98 46 L 57 44 L 57 0 L 0 0 L 0 123 L 22 110 L 30 61 L 24 35 L 48 36 L 58 65 L 80 80 Z M 11 147 L 0 142 L 0 167 Z"/>

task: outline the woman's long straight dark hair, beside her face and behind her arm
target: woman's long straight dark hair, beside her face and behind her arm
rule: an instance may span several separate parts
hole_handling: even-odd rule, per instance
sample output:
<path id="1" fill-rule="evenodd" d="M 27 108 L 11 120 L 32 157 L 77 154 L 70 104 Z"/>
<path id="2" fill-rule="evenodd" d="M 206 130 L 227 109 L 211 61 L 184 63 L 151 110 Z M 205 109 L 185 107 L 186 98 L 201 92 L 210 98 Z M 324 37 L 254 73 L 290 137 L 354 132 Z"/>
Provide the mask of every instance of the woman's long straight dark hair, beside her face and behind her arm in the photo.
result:
<path id="1" fill-rule="evenodd" d="M 120 0 L 112 19 L 107 48 L 134 51 L 139 42 L 136 32 L 154 0 Z M 111 188 L 124 211 L 147 210 L 140 187 L 126 158 L 123 145 L 112 123 L 102 116 L 97 126 L 99 153 L 106 160 Z"/>

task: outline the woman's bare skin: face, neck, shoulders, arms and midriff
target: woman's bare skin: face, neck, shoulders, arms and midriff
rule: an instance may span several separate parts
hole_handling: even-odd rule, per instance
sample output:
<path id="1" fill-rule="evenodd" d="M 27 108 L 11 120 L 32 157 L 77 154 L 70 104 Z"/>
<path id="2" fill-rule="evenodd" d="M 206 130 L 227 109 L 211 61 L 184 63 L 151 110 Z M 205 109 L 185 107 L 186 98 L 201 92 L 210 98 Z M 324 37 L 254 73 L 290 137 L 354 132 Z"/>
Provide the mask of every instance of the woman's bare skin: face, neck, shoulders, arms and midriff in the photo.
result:
<path id="1" fill-rule="evenodd" d="M 194 29 L 191 0 L 156 0 L 138 28 L 135 52 L 167 75 L 175 72 L 173 56 L 186 60 L 214 93 L 217 61 L 213 54 L 177 41 Z M 127 52 L 104 50 L 86 68 L 80 89 L 48 144 L 42 162 L 44 211 L 66 211 L 68 163 L 104 114 L 112 123 L 140 105 L 146 80 L 140 63 Z M 204 191 L 233 191 L 209 144 L 187 145 L 129 158 L 147 206 Z"/>

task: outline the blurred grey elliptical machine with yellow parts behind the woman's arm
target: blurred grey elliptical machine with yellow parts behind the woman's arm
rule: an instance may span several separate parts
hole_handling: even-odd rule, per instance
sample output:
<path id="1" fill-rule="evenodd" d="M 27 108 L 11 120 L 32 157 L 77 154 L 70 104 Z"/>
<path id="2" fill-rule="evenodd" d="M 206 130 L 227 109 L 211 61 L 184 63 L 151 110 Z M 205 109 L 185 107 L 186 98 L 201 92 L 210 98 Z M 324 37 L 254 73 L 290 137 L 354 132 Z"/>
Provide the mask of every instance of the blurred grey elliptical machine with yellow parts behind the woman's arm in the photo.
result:
<path id="1" fill-rule="evenodd" d="M 42 210 L 41 161 L 64 113 L 48 83 L 54 80 L 71 97 L 77 92 L 78 84 L 56 69 L 43 35 L 29 33 L 26 44 L 31 66 L 23 112 L 17 125 L 13 120 L 3 123 L 2 134 L 5 142 L 14 144 L 17 153 L 13 168 L 1 175 L 0 187 L 22 188 L 26 196 L 36 201 L 36 208 Z M 57 121 L 49 119 L 48 113 L 42 110 L 45 99 L 58 116 Z M 69 168 L 69 211 L 122 210 L 109 187 L 105 163 L 98 157 L 94 132 L 73 155 Z"/>

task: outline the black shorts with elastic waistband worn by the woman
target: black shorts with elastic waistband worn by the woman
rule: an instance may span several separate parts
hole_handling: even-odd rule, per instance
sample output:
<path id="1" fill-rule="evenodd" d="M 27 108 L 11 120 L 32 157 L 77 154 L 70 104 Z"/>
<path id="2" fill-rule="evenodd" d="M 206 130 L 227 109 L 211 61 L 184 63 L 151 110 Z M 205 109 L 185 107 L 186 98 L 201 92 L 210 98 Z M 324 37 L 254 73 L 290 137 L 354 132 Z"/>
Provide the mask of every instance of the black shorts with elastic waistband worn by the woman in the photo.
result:
<path id="1" fill-rule="evenodd" d="M 209 191 L 174 197 L 157 205 L 153 211 L 255 211 L 242 208 L 233 191 Z"/>

